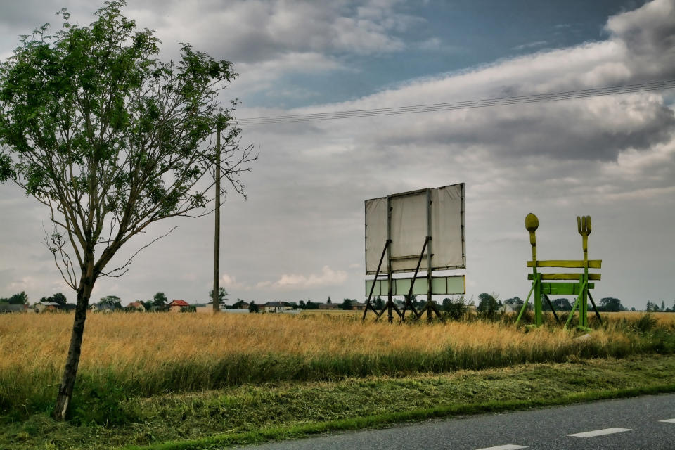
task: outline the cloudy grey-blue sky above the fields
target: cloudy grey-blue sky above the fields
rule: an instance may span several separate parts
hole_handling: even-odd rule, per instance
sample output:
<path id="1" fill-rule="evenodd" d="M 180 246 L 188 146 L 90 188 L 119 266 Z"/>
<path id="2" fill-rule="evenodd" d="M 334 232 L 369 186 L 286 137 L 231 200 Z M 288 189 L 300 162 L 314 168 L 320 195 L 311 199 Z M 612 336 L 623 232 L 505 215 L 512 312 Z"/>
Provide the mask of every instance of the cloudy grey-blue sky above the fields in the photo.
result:
<path id="1" fill-rule="evenodd" d="M 0 0 L 0 58 L 77 0 Z M 237 117 L 469 101 L 675 79 L 675 0 L 129 0 L 162 58 L 179 42 L 231 60 L 223 100 Z M 672 307 L 675 293 L 675 92 L 650 91 L 472 110 L 243 127 L 259 153 L 244 199 L 221 217 L 221 286 L 237 299 L 364 301 L 364 200 L 465 183 L 467 300 L 529 291 L 523 220 L 539 217 L 539 259 L 581 259 L 577 215 L 590 215 L 593 297 Z M 0 186 L 0 297 L 75 293 L 41 243 L 48 212 Z M 213 217 L 172 219 L 131 240 L 93 301 L 206 302 Z M 126 259 L 124 259 L 125 261 Z M 442 297 L 441 297 L 442 298 Z M 440 298 L 438 300 L 441 300 Z"/>

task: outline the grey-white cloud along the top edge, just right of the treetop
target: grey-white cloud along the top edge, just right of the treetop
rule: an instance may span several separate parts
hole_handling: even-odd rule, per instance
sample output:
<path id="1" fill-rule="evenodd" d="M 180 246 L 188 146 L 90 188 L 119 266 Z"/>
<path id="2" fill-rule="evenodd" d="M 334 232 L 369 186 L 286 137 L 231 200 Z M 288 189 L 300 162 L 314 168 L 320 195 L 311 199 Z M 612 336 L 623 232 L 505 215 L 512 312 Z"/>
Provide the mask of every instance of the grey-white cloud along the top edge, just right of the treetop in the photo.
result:
<path id="1" fill-rule="evenodd" d="M 238 63 L 274 60 L 281 53 L 400 51 L 396 36 L 423 20 L 397 12 L 396 1 L 247 0 L 221 2 L 155 2 L 134 4 L 133 15 L 150 22 L 160 37 L 189 41 L 212 54 Z"/>

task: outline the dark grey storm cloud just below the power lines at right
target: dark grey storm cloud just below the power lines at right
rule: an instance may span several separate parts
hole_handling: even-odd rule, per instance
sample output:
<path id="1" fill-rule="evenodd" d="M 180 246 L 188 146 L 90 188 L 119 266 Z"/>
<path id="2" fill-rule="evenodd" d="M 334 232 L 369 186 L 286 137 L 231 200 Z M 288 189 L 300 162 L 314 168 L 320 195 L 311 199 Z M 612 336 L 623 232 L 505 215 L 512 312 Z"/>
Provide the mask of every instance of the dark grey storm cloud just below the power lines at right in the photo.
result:
<path id="1" fill-rule="evenodd" d="M 373 145 L 452 142 L 493 148 L 498 159 L 547 155 L 555 160 L 616 160 L 629 148 L 645 150 L 669 140 L 675 115 L 656 98 L 633 96 L 446 113 L 428 119 L 421 115 L 417 123 L 373 136 Z"/>

